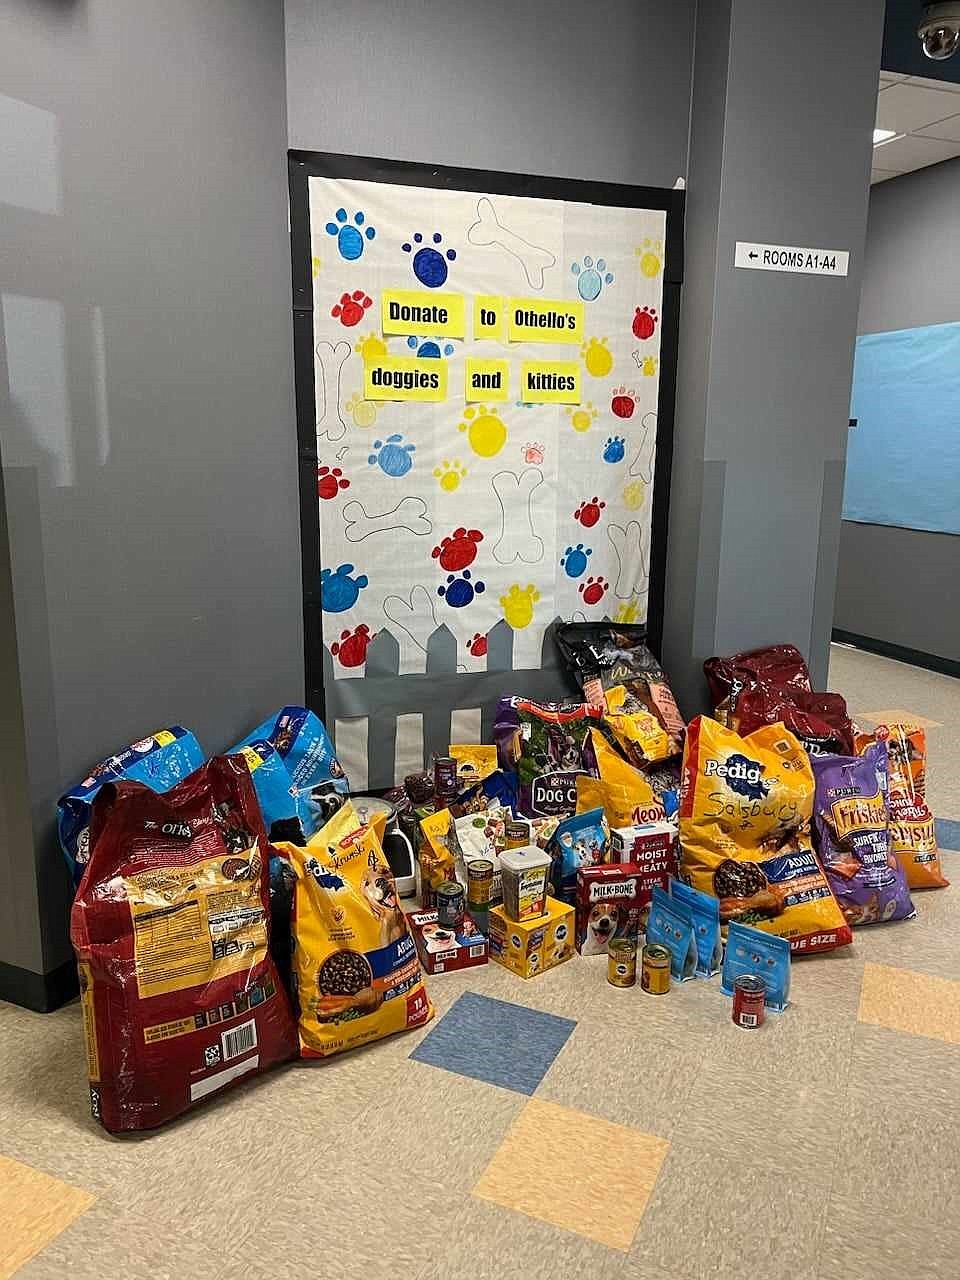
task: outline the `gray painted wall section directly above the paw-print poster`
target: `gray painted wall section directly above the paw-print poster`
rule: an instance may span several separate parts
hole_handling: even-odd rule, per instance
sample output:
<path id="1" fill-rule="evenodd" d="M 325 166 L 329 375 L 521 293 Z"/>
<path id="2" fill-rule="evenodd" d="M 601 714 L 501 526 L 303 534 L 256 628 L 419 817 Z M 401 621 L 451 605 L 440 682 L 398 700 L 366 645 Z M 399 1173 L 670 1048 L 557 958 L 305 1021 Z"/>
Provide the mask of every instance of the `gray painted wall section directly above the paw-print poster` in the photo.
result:
<path id="1" fill-rule="evenodd" d="M 287 0 L 291 147 L 672 187 L 694 0 Z"/>

